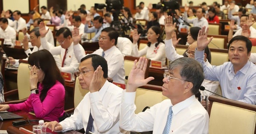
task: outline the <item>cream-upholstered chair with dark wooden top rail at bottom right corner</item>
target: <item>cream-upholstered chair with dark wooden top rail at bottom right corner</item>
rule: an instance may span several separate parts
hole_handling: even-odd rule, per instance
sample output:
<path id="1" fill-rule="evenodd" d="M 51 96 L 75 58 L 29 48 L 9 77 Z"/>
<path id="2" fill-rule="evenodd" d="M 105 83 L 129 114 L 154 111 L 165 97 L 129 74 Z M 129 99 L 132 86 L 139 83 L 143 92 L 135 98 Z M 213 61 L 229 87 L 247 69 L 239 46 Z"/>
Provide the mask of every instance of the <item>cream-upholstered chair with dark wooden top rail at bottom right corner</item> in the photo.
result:
<path id="1" fill-rule="evenodd" d="M 209 96 L 209 134 L 256 134 L 256 105 Z"/>

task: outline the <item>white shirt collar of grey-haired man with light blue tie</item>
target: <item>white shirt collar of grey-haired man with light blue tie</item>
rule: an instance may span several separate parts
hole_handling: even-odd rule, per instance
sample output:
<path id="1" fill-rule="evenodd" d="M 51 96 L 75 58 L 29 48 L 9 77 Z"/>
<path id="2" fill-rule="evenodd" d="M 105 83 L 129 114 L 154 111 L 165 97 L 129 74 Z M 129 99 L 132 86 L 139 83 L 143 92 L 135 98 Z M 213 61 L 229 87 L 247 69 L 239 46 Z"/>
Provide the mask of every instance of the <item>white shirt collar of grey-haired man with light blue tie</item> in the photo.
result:
<path id="1" fill-rule="evenodd" d="M 198 100 L 195 99 L 195 95 L 192 95 L 191 97 L 187 98 L 186 100 L 183 100 L 182 102 L 173 105 L 172 106 L 173 114 L 175 115 L 175 114 L 179 113 L 181 110 L 187 108 L 194 101 L 198 101 Z"/>

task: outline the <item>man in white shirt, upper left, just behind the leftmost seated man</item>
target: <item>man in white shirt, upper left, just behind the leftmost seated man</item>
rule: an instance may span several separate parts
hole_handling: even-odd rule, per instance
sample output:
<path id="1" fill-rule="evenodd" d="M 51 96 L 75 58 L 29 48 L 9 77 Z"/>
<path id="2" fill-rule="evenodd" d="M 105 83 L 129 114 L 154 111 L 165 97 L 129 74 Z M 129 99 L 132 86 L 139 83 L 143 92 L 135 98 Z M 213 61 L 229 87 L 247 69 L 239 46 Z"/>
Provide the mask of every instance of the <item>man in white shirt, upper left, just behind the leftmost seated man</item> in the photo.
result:
<path id="1" fill-rule="evenodd" d="M 19 32 L 22 29 L 27 29 L 26 27 L 26 20 L 24 20 L 21 17 L 21 12 L 16 10 L 13 12 L 13 18 L 14 18 L 14 29 L 16 30 L 16 32 Z"/>

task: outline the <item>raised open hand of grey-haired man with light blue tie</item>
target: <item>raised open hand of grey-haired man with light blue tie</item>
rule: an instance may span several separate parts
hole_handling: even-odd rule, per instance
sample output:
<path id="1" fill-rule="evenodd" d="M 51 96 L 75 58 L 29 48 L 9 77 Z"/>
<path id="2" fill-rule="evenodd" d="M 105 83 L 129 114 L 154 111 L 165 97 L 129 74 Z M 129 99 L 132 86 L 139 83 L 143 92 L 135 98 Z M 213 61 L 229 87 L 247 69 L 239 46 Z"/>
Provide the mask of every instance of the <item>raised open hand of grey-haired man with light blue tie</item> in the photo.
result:
<path id="1" fill-rule="evenodd" d="M 126 92 L 134 92 L 137 87 L 146 85 L 149 81 L 154 80 L 154 77 L 145 77 L 148 60 L 145 57 L 140 57 L 139 61 L 135 60 L 134 65 L 128 77 Z"/>

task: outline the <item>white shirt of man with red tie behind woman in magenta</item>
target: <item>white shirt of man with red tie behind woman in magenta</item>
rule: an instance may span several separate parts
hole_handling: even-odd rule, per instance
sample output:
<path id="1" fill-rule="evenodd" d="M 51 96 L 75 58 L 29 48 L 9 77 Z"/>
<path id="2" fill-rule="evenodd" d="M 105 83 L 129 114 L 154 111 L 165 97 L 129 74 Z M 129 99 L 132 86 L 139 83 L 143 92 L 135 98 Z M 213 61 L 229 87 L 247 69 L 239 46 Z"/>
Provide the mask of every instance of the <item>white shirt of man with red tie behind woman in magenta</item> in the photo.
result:
<path id="1" fill-rule="evenodd" d="M 41 37 L 41 46 L 43 46 L 44 49 L 47 49 L 48 51 L 50 51 L 50 53 L 52 55 L 60 55 L 61 56 L 61 63 L 62 60 L 64 58 L 65 55 L 65 49 L 62 48 L 61 46 L 55 46 L 50 48 L 49 45 L 46 45 L 48 42 L 46 40 L 45 37 Z M 80 45 L 81 46 L 81 45 Z M 81 46 L 81 48 L 83 48 Z M 74 51 L 73 51 L 73 42 L 71 43 L 70 47 L 67 48 L 67 54 L 66 54 L 66 58 L 64 60 L 64 67 L 59 68 L 60 71 L 63 72 L 70 72 L 70 73 L 74 73 L 75 71 L 78 70 L 79 67 L 79 62 L 76 60 Z"/>

